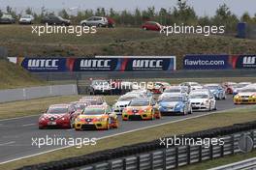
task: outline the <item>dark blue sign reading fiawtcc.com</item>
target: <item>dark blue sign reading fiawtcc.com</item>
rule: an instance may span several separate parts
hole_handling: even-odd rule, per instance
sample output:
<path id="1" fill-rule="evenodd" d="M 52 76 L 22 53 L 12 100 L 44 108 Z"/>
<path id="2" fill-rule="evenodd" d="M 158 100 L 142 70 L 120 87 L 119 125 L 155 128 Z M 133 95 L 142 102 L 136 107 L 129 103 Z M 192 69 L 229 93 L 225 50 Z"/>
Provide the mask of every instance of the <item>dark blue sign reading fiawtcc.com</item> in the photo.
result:
<path id="1" fill-rule="evenodd" d="M 232 56 L 229 55 L 185 55 L 185 70 L 229 70 L 233 69 Z"/>

